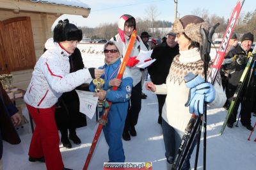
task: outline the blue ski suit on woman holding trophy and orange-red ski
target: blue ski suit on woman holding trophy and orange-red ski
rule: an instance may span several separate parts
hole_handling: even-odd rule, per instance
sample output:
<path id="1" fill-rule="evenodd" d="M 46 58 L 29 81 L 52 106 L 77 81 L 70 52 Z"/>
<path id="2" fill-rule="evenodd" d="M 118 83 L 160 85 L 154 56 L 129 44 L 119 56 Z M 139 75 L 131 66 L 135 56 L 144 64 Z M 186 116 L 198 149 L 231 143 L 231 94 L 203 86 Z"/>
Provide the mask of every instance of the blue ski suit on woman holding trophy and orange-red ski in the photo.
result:
<path id="1" fill-rule="evenodd" d="M 103 127 L 105 139 L 109 146 L 109 162 L 124 162 L 125 160 L 122 133 L 132 91 L 132 77 L 129 68 L 125 68 L 122 83 L 116 91 L 113 91 L 112 86 L 109 86 L 109 81 L 116 77 L 120 64 L 121 60 L 118 59 L 111 65 L 105 64 L 100 67 L 101 69 L 105 69 L 104 75 L 100 78 L 105 81 L 103 89 L 107 91 L 106 100 L 112 102 L 108 113 L 108 123 Z M 95 86 L 93 86 L 92 82 L 89 88 L 90 91 L 95 91 Z M 100 116 L 103 112 L 100 112 Z"/>

